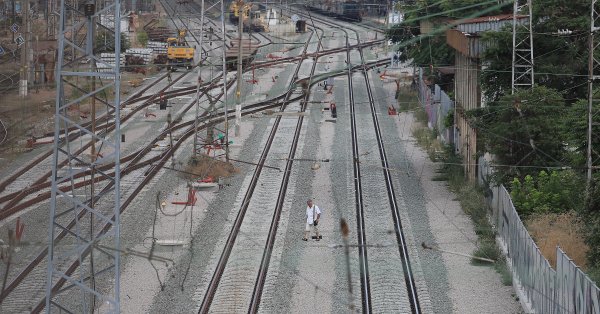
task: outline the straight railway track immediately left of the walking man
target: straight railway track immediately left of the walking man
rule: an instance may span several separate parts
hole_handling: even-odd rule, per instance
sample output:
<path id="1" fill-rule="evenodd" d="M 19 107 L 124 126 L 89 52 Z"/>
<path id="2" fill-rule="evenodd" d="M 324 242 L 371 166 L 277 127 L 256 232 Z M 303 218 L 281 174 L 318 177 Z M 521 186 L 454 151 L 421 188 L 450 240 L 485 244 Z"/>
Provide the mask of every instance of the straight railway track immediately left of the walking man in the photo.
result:
<path id="1" fill-rule="evenodd" d="M 312 38 L 312 34 L 306 41 L 306 44 L 303 49 L 304 54 L 308 49 L 308 43 L 310 42 L 310 38 Z M 302 62 L 299 62 L 292 77 L 298 77 L 298 73 L 300 71 L 301 66 Z M 314 66 L 312 71 L 314 72 Z M 306 81 L 310 81 L 310 78 L 308 78 L 308 80 Z M 283 100 L 283 105 L 280 108 L 280 112 L 284 112 L 288 108 L 290 104 L 290 98 L 292 96 L 291 92 L 292 89 L 290 89 L 286 93 L 286 96 Z M 307 93 L 305 97 L 308 97 Z M 303 104 L 305 104 L 305 102 Z M 304 111 L 305 108 L 306 107 L 304 105 L 300 109 L 301 111 Z M 297 110 L 298 108 L 295 109 Z M 296 132 L 294 133 L 294 137 L 291 143 L 289 143 L 289 139 L 287 138 L 276 136 L 281 120 L 281 116 L 275 118 L 273 126 L 271 127 L 271 132 L 269 133 L 269 136 L 266 139 L 263 151 L 258 159 L 258 166 L 254 170 L 246 194 L 244 195 L 244 198 L 240 202 L 240 204 L 237 205 L 240 206 L 240 210 L 235 218 L 233 227 L 225 242 L 223 252 L 221 253 L 219 261 L 217 262 L 215 271 L 212 274 L 212 278 L 209 282 L 208 288 L 204 293 L 204 297 L 198 309 L 198 313 L 208 313 L 211 308 L 213 310 L 219 311 L 240 311 L 245 310 L 245 308 L 247 307 L 249 307 L 250 309 L 258 308 L 258 302 L 260 301 L 260 293 L 262 291 L 262 285 L 264 284 L 264 275 L 266 274 L 266 270 L 268 269 L 268 258 L 264 254 L 261 254 L 262 258 L 261 256 L 257 255 L 257 251 L 253 249 L 253 239 L 249 239 L 248 237 L 238 239 L 238 234 L 242 227 L 244 227 L 245 232 L 251 234 L 252 238 L 264 238 L 264 232 L 266 231 L 266 229 L 268 229 L 267 242 L 265 245 L 265 254 L 268 254 L 268 248 L 272 247 L 273 245 L 273 241 L 277 231 L 276 226 L 279 222 L 279 216 L 281 213 L 281 206 L 276 205 L 270 227 L 267 226 L 266 220 L 263 219 L 264 214 L 262 214 L 260 211 L 248 212 L 248 208 L 251 204 L 256 203 L 256 199 L 260 199 L 261 195 L 268 195 L 268 193 L 265 192 L 277 189 L 277 182 L 281 182 L 280 197 L 285 196 L 285 190 L 281 189 L 283 188 L 283 186 L 287 185 L 287 181 L 289 180 L 289 173 L 284 172 L 285 175 L 283 176 L 283 178 L 278 174 L 266 175 L 266 178 L 261 178 L 264 163 L 269 153 L 272 153 L 272 148 L 276 151 L 281 151 L 282 149 L 285 150 L 285 148 L 289 147 L 290 151 L 295 151 L 295 148 L 297 147 L 298 138 L 300 136 L 300 128 L 302 121 L 301 118 L 299 119 L 299 124 L 296 127 Z M 273 145 L 273 143 L 276 143 L 276 145 Z M 255 195 L 257 186 L 260 186 L 260 188 L 259 191 L 256 193 L 257 195 Z M 267 199 L 262 199 L 261 204 L 262 205 L 260 207 L 254 206 L 253 208 L 267 207 L 265 206 L 265 204 L 271 204 L 271 202 Z M 279 201 L 277 202 L 277 204 L 279 204 Z M 247 227 L 248 225 L 250 225 L 251 227 Z M 267 259 L 266 262 L 265 259 Z M 248 261 L 251 261 L 251 263 L 254 266 L 250 267 L 251 269 L 249 269 L 246 266 L 243 266 Z M 246 278 L 251 280 L 251 278 L 254 277 L 253 275 L 256 274 L 257 268 L 259 277 L 257 278 L 254 287 L 249 285 L 249 282 L 247 280 L 239 280 L 240 278 Z M 243 287 L 235 287 L 240 282 L 245 282 Z M 252 290 L 252 292 L 250 292 L 250 290 Z M 234 292 L 236 295 L 244 294 L 245 297 L 242 297 L 243 301 L 241 303 L 232 302 L 233 300 L 231 292 Z"/>

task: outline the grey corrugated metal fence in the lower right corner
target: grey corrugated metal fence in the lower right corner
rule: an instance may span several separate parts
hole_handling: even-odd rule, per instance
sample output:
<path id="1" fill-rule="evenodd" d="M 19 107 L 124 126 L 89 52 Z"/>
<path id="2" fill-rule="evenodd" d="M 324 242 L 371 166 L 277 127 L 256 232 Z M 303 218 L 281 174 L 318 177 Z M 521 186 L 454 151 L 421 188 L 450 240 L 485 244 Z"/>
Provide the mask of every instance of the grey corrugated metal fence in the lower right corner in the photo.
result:
<path id="1" fill-rule="evenodd" d="M 479 162 L 479 183 L 490 167 Z M 535 313 L 600 313 L 600 289 L 559 248 L 556 270 L 542 255 L 517 214 L 504 186 L 491 187 L 491 218 L 500 246 L 511 264 L 515 287 Z"/>

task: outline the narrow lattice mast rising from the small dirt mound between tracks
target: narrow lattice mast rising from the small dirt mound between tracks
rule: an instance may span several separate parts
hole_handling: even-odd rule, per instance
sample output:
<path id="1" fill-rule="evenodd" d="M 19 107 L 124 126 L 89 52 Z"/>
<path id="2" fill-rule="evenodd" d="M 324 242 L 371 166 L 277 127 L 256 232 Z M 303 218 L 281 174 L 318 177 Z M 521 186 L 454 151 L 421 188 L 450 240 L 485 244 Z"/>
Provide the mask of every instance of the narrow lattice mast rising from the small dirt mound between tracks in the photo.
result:
<path id="1" fill-rule="evenodd" d="M 214 16 L 220 16 L 221 17 L 221 25 L 220 28 L 219 27 L 211 27 L 209 26 L 210 24 L 207 23 L 207 21 L 205 20 L 205 16 L 206 12 L 211 12 L 211 15 Z M 200 84 L 201 84 L 201 72 L 206 69 L 209 68 L 211 71 L 211 75 L 210 75 L 210 80 L 212 81 L 213 79 L 213 70 L 215 68 L 215 66 L 221 65 L 221 71 L 222 73 L 224 73 L 225 75 L 223 75 L 223 104 L 224 104 L 224 110 L 225 112 L 227 112 L 227 93 L 226 93 L 226 86 L 227 86 L 227 65 L 226 65 L 226 50 L 227 50 L 227 46 L 226 46 L 226 33 L 227 30 L 225 29 L 225 18 L 227 18 L 228 16 L 228 11 L 226 10 L 225 7 L 225 3 L 224 0 L 219 0 L 219 1 L 214 1 L 212 3 L 209 3 L 208 6 L 206 6 L 205 0 L 202 0 L 200 3 L 200 47 L 198 49 L 198 54 L 199 54 L 199 58 L 198 60 L 200 60 L 198 62 L 198 87 L 196 89 L 196 119 L 195 119 L 195 123 L 194 123 L 194 156 L 196 156 L 199 152 L 200 152 L 200 147 L 202 146 L 201 141 L 199 140 L 200 135 L 198 134 L 198 127 L 199 127 L 199 119 L 200 119 Z M 204 37 L 206 37 L 208 39 L 208 47 L 204 48 Z M 216 44 L 213 44 L 214 42 L 216 42 Z M 221 53 L 220 54 L 216 54 L 214 53 L 215 50 L 220 50 Z M 206 109 L 207 111 L 214 111 L 216 110 L 215 104 L 216 104 L 216 100 L 213 99 L 213 95 L 210 95 L 210 93 L 207 94 L 207 98 L 209 100 L 209 107 Z M 225 133 L 227 132 L 228 129 L 228 118 L 227 115 L 225 115 Z M 229 136 L 228 134 L 225 134 L 225 139 L 227 142 L 229 142 Z M 229 148 L 228 146 L 226 146 L 225 148 L 226 151 L 226 156 L 227 158 L 229 158 Z"/>

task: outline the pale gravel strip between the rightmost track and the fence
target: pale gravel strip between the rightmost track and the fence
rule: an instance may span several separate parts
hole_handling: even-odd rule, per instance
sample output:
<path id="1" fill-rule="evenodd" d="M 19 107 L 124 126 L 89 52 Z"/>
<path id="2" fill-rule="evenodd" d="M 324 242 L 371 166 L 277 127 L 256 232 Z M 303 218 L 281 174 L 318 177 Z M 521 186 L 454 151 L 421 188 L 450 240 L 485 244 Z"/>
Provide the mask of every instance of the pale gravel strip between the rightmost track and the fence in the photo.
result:
<path id="1" fill-rule="evenodd" d="M 473 230 L 473 223 L 465 215 L 460 204 L 455 200 L 446 183 L 432 181 L 439 165 L 431 162 L 427 154 L 416 146 L 410 135 L 410 130 L 415 126 L 412 114 L 400 114 L 396 120 L 398 135 L 407 152 L 414 179 L 418 178 L 415 186 L 420 186 L 423 191 L 427 225 L 432 238 L 425 240 L 428 245 L 438 247 L 446 252 L 471 254 L 477 246 L 477 235 Z M 413 224 L 413 230 L 416 226 Z M 438 251 L 439 252 L 439 251 Z M 439 254 L 430 250 L 420 250 L 423 259 Z M 441 253 L 447 277 L 446 291 L 451 308 L 436 312 L 443 313 L 522 313 L 518 301 L 513 296 L 512 286 L 504 286 L 500 275 L 488 266 L 474 266 L 468 257 L 452 253 Z M 435 284 L 428 284 L 435 302 Z"/>

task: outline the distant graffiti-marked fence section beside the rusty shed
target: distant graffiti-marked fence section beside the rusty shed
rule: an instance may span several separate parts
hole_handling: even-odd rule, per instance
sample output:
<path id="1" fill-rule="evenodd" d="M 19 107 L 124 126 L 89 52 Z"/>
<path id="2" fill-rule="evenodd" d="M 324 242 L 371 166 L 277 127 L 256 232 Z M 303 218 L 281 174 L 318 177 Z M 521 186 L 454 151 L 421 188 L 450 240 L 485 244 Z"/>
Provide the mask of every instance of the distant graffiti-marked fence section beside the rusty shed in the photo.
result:
<path id="1" fill-rule="evenodd" d="M 427 112 L 427 126 L 430 129 L 436 128 L 438 130 L 444 144 L 452 143 L 452 129 L 447 128 L 444 123 L 449 112 L 454 110 L 454 102 L 442 91 L 439 85 L 427 85 L 425 83 L 422 69 L 419 71 L 417 88 L 419 102 Z"/>

